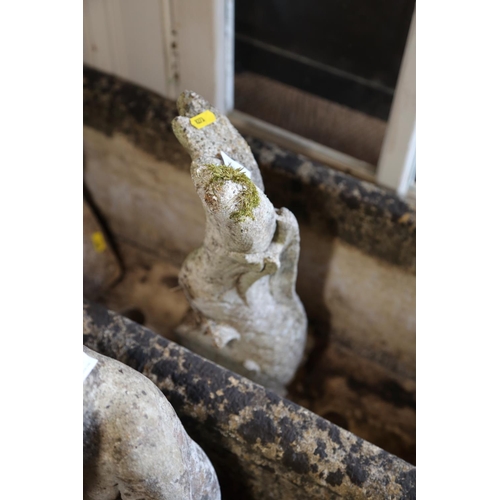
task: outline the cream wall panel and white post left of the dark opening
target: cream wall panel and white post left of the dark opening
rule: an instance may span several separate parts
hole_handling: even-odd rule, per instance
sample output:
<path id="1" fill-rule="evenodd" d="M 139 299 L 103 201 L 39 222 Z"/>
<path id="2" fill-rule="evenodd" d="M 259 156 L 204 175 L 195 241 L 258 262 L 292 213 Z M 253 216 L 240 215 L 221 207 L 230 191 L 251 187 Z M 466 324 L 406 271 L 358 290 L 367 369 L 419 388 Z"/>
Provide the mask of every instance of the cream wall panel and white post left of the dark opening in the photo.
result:
<path id="1" fill-rule="evenodd" d="M 84 63 L 176 99 L 232 108 L 234 0 L 84 0 Z"/>

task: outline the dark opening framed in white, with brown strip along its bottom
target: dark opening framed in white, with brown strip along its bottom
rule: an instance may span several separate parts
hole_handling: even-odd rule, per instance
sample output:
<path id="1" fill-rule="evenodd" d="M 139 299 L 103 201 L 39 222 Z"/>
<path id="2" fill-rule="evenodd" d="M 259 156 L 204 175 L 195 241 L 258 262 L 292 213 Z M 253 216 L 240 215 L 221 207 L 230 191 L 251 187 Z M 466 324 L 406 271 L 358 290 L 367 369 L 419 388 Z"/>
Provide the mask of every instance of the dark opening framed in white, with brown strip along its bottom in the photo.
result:
<path id="1" fill-rule="evenodd" d="M 285 108 L 291 100 L 309 122 L 333 113 L 334 122 L 323 116 L 317 132 L 300 121 L 291 131 L 376 163 L 415 1 L 238 0 L 235 5 L 236 109 L 288 130 Z M 252 79 L 261 90 L 266 79 L 282 85 L 264 89 L 268 100 L 257 103 L 259 89 L 249 93 Z M 325 111 L 329 103 L 344 108 L 341 118 L 334 108 Z M 315 111 L 318 107 L 323 111 Z M 347 130 L 340 130 L 342 123 Z M 350 143 L 349 135 L 357 139 Z M 360 147 L 363 136 L 367 143 Z"/>

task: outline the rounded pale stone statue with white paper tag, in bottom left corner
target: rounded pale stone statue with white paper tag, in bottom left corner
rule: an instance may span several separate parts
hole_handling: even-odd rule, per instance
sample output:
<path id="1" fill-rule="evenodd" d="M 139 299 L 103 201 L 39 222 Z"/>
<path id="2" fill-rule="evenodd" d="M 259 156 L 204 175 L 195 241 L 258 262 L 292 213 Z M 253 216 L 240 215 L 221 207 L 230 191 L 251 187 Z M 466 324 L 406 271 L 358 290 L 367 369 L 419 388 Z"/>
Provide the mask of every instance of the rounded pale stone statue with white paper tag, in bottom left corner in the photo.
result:
<path id="1" fill-rule="evenodd" d="M 220 500 L 212 464 L 153 382 L 83 352 L 84 499 Z"/>

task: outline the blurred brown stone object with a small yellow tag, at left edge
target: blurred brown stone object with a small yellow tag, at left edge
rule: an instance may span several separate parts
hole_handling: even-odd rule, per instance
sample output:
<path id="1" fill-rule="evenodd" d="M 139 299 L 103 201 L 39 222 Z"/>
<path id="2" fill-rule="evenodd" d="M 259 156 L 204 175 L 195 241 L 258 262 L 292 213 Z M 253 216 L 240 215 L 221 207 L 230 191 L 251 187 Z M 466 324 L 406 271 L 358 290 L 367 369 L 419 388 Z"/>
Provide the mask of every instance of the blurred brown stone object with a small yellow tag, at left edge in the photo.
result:
<path id="1" fill-rule="evenodd" d="M 83 295 L 96 299 L 121 275 L 115 253 L 88 203 L 83 201 Z"/>

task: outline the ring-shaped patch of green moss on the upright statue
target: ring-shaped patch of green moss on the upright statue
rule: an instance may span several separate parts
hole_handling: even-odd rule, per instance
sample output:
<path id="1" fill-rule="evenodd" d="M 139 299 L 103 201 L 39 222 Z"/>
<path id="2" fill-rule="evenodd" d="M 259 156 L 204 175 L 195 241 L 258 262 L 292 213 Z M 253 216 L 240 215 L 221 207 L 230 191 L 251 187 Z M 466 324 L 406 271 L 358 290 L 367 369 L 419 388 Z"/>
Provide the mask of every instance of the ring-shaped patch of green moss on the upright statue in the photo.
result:
<path id="1" fill-rule="evenodd" d="M 205 189 L 211 191 L 215 196 L 217 186 L 222 186 L 225 182 L 231 181 L 243 187 L 238 194 L 235 210 L 229 217 L 235 222 L 242 222 L 245 217 L 255 220 L 253 211 L 259 206 L 260 197 L 255 184 L 245 175 L 240 168 L 233 168 L 227 165 L 206 165 L 210 172 L 210 179 Z"/>

